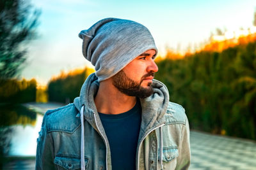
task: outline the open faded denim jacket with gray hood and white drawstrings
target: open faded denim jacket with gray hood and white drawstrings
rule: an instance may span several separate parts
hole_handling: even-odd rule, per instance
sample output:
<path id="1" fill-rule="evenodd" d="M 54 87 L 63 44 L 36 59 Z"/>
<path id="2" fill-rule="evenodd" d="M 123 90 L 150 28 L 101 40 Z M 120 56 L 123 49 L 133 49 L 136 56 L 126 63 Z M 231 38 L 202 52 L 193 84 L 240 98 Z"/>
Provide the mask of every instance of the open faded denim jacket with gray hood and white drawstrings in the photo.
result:
<path id="1" fill-rule="evenodd" d="M 188 169 L 191 153 L 184 108 L 169 102 L 168 90 L 160 81 L 154 80 L 152 87 L 154 94 L 140 99 L 136 169 Z M 98 88 L 93 73 L 74 103 L 45 113 L 37 139 L 36 169 L 111 170 L 108 138 L 93 101 Z"/>

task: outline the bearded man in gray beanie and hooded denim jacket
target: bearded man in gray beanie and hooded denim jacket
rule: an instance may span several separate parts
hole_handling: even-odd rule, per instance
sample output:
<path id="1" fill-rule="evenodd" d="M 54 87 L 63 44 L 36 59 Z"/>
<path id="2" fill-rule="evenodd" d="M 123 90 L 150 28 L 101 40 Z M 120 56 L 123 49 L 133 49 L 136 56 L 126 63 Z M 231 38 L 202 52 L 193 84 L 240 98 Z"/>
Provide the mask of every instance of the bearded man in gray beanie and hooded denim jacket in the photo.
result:
<path id="1" fill-rule="evenodd" d="M 188 169 L 188 119 L 153 80 L 157 48 L 148 29 L 105 18 L 79 37 L 96 72 L 74 103 L 45 113 L 36 169 Z"/>

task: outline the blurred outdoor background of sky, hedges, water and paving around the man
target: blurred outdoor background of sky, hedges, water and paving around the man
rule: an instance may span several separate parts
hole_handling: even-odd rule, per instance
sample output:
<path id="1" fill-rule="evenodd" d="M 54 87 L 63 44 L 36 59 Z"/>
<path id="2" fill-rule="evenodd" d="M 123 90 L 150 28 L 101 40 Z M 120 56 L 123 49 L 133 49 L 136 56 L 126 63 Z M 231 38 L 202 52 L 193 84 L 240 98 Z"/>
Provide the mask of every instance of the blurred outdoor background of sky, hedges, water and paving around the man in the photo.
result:
<path id="1" fill-rule="evenodd" d="M 255 0 L 0 0 L 0 169 L 35 169 L 45 111 L 94 71 L 78 33 L 107 17 L 155 38 L 156 79 L 189 119 L 191 169 L 256 169 Z"/>

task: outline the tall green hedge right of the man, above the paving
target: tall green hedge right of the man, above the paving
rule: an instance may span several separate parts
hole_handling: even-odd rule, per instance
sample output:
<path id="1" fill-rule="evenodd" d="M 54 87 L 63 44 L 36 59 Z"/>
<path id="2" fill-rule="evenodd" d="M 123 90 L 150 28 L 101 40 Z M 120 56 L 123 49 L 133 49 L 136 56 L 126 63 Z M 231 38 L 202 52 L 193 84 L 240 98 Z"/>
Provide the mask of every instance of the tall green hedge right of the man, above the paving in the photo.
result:
<path id="1" fill-rule="evenodd" d="M 256 139 L 256 41 L 157 64 L 156 79 L 186 108 L 191 128 Z"/>

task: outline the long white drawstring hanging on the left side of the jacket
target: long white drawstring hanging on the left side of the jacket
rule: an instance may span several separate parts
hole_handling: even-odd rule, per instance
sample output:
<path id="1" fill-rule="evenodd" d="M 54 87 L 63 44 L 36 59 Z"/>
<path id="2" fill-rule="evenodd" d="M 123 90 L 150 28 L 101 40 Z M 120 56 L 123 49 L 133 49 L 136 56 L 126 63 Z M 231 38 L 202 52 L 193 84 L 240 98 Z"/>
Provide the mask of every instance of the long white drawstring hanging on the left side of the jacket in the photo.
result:
<path id="1" fill-rule="evenodd" d="M 84 105 L 80 111 L 81 114 L 81 170 L 85 170 L 84 167 Z"/>

